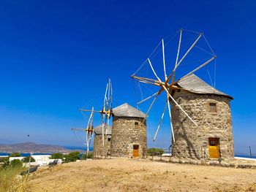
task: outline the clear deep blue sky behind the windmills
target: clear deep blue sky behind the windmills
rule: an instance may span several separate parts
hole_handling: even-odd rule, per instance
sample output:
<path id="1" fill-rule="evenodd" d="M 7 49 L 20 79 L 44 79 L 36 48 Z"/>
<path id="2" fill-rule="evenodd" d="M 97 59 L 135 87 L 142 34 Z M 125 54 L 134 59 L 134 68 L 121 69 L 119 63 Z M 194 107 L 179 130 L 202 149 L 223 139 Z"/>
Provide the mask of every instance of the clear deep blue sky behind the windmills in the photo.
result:
<path id="1" fill-rule="evenodd" d="M 129 76 L 162 37 L 187 28 L 203 31 L 218 56 L 216 87 L 234 97 L 236 152 L 256 153 L 255 9 L 255 1 L 1 1 L 0 143 L 83 145 L 70 131 L 86 124 L 78 109 L 101 106 L 108 77 L 114 106 L 135 106 Z M 168 147 L 170 128 L 161 131 L 157 146 Z"/>

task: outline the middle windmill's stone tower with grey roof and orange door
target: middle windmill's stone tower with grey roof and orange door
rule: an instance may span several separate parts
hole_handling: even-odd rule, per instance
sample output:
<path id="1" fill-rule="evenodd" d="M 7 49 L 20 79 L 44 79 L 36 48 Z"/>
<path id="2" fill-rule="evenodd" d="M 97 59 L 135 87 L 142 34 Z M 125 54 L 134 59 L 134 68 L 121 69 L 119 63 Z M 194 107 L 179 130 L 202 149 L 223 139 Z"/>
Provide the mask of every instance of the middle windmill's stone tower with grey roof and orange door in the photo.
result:
<path id="1" fill-rule="evenodd" d="M 147 150 L 146 115 L 129 104 L 113 109 L 111 156 L 145 157 Z"/>

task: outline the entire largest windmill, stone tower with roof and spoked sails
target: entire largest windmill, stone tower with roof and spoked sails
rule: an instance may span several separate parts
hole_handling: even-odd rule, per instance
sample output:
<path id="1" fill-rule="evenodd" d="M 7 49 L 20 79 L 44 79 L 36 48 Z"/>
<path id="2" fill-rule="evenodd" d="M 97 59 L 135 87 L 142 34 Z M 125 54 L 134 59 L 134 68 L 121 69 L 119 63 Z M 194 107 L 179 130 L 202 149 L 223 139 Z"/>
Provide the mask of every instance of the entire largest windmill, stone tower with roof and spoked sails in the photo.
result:
<path id="1" fill-rule="evenodd" d="M 154 140 L 157 137 L 165 110 L 167 109 L 172 133 L 171 145 L 173 156 L 198 159 L 233 158 L 233 133 L 230 113 L 230 100 L 232 97 L 217 91 L 217 89 L 195 76 L 195 72 L 211 63 L 211 61 L 214 61 L 217 56 L 208 44 L 206 37 L 202 33 L 196 33 L 197 37 L 195 41 L 184 50 L 180 58 L 184 31 L 187 30 L 181 29 L 176 32 L 176 35 L 178 34 L 179 37 L 178 46 L 176 48 L 176 57 L 173 61 L 173 70 L 170 74 L 167 75 L 165 66 L 166 54 L 164 39 L 159 43 L 159 45 L 162 45 L 162 69 L 164 77 L 159 77 L 151 63 L 150 57 L 143 65 L 148 64 L 150 66 L 154 77 L 137 75 L 143 69 L 143 65 L 140 66 L 135 74 L 132 74 L 132 78 L 135 80 L 159 88 L 156 93 L 143 99 L 138 104 L 153 99 L 146 112 L 147 116 L 159 96 L 166 96 L 165 107 L 156 134 L 154 135 Z M 202 39 L 208 45 L 210 51 L 197 46 L 198 42 Z M 181 64 L 186 62 L 185 58 L 192 53 L 192 50 L 195 50 L 195 47 L 197 50 L 202 50 L 210 56 L 204 58 L 204 60 L 201 59 L 201 63 L 197 64 L 197 67 L 191 69 L 183 77 L 176 80 L 177 69 Z"/>

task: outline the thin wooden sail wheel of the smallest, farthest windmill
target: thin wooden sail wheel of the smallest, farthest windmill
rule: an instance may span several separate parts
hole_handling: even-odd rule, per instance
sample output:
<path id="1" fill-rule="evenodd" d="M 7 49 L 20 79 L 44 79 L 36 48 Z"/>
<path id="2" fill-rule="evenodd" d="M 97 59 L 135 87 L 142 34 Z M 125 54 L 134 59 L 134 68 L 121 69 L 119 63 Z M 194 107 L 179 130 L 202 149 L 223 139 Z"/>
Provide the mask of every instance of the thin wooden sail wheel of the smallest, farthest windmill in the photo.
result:
<path id="1" fill-rule="evenodd" d="M 89 154 L 89 147 L 91 143 L 91 138 L 94 134 L 94 107 L 91 109 L 91 115 L 87 123 L 86 128 L 71 128 L 72 131 L 85 131 L 86 132 L 86 157 Z"/>

